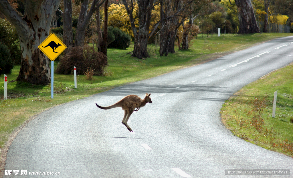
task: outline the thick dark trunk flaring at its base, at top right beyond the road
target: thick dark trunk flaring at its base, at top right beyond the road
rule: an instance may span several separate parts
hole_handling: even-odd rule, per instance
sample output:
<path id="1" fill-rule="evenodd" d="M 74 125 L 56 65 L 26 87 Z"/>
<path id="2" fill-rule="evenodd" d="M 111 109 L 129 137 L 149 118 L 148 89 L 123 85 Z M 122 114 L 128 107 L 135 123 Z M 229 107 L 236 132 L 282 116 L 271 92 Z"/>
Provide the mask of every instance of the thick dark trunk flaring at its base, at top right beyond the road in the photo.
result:
<path id="1" fill-rule="evenodd" d="M 260 33 L 257 26 L 251 0 L 235 0 L 238 9 L 239 34 Z"/>

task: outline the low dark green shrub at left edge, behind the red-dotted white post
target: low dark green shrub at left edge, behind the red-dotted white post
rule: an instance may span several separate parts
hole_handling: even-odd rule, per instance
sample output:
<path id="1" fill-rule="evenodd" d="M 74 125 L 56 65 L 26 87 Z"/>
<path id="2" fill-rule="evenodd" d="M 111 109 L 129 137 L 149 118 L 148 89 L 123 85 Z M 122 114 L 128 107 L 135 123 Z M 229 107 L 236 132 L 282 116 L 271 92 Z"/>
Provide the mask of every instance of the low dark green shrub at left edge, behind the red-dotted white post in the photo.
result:
<path id="1" fill-rule="evenodd" d="M 10 58 L 10 50 L 0 42 L 0 75 L 11 73 L 13 62 Z"/>

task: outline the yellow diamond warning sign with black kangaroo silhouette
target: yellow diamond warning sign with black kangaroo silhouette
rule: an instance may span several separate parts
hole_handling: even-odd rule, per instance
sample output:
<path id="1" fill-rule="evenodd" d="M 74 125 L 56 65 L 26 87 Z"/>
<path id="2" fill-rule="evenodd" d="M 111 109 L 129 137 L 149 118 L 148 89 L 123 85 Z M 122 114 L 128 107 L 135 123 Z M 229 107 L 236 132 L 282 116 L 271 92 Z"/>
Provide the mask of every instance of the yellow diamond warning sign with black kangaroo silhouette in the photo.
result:
<path id="1" fill-rule="evenodd" d="M 40 44 L 39 48 L 51 61 L 54 61 L 54 59 L 66 49 L 66 46 L 54 33 L 51 33 L 51 35 Z"/>

